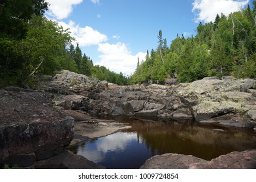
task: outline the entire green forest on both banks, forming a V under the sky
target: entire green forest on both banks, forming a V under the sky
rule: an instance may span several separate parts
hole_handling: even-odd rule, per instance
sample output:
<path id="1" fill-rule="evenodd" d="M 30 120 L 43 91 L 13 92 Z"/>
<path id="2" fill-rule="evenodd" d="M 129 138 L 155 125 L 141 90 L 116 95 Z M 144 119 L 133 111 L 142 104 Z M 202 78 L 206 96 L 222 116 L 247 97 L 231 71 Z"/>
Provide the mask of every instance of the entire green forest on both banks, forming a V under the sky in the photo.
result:
<path id="1" fill-rule="evenodd" d="M 256 77 L 256 1 L 253 8 L 217 14 L 199 23 L 195 36 L 177 34 L 170 45 L 158 34 L 157 48 L 138 60 L 125 77 L 82 55 L 68 29 L 47 19 L 44 0 L 3 0 L 0 3 L 0 87 L 33 85 L 35 76 L 70 70 L 118 85 L 192 82 L 203 77 Z"/>

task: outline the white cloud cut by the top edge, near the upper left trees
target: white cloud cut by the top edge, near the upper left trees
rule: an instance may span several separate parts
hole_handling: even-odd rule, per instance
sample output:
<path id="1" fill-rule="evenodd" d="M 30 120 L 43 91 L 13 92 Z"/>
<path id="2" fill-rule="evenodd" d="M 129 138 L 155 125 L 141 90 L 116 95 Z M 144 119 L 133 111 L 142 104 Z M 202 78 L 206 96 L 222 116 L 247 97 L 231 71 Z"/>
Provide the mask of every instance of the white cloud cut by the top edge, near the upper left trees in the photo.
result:
<path id="1" fill-rule="evenodd" d="M 67 18 L 71 12 L 74 5 L 82 3 L 83 0 L 46 0 L 50 3 L 48 15 L 54 16 L 57 19 Z"/>

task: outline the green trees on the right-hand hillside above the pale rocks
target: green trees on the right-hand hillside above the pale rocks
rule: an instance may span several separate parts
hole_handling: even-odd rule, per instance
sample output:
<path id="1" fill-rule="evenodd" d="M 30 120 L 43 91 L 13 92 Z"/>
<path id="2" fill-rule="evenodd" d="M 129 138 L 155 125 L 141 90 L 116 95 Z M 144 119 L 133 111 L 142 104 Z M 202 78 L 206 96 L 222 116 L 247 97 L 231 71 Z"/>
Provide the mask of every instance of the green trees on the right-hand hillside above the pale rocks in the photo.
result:
<path id="1" fill-rule="evenodd" d="M 138 60 L 131 83 L 164 83 L 174 78 L 179 83 L 203 77 L 233 76 L 256 78 L 256 1 L 253 9 L 217 14 L 214 22 L 199 23 L 197 35 L 184 35 L 170 46 L 159 31 L 158 46 Z"/>

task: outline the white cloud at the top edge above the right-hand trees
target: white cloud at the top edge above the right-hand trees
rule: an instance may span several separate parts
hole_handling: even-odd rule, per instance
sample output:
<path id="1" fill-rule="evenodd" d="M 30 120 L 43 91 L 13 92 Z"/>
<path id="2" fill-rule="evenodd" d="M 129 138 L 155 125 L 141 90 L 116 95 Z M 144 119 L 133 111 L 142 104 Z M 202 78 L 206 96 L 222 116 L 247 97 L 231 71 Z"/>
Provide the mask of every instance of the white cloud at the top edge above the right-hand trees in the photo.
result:
<path id="1" fill-rule="evenodd" d="M 249 0 L 195 0 L 192 12 L 196 12 L 195 21 L 206 23 L 214 21 L 217 14 L 229 15 L 248 5 Z"/>

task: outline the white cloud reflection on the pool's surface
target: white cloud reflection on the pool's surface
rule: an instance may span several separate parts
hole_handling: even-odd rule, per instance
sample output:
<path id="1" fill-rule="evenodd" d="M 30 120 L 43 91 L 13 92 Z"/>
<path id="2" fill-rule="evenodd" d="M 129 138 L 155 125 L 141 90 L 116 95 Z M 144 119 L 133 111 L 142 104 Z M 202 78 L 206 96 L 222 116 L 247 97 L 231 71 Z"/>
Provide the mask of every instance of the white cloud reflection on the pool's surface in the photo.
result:
<path id="1" fill-rule="evenodd" d="M 102 152 L 124 151 L 132 140 L 137 140 L 136 133 L 114 133 L 97 142 L 97 149 Z"/>

